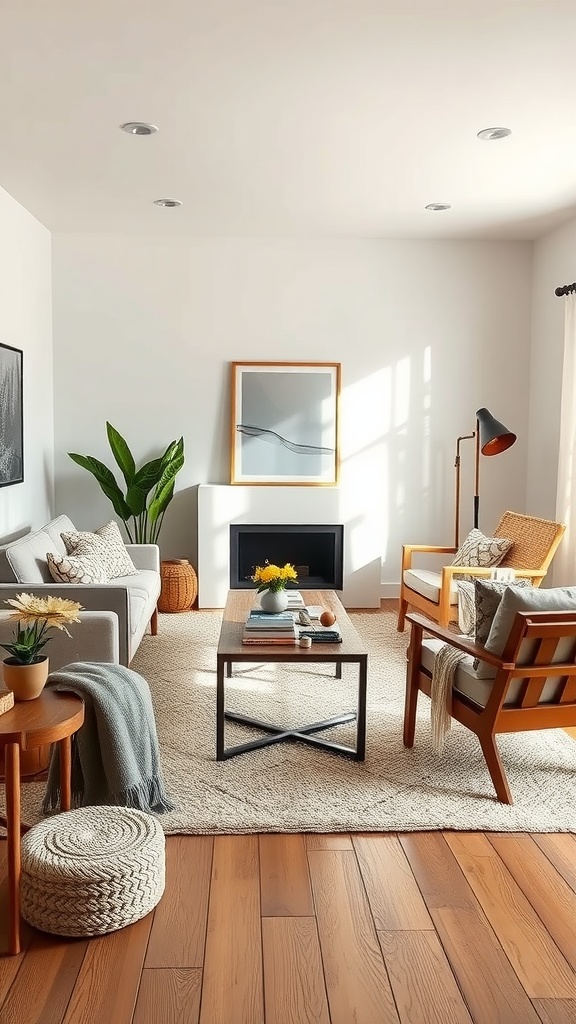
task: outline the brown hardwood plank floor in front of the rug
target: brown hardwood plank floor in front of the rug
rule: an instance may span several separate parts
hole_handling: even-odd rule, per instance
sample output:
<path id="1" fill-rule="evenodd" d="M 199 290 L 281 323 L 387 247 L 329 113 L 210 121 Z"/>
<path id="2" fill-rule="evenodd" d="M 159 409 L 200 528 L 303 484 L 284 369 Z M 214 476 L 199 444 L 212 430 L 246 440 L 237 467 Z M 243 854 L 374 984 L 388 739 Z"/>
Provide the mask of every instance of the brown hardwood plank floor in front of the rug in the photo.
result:
<path id="1" fill-rule="evenodd" d="M 24 929 L 0 1024 L 574 1024 L 576 837 L 167 838 L 153 913 Z M 5 843 L 0 943 L 6 948 Z"/>

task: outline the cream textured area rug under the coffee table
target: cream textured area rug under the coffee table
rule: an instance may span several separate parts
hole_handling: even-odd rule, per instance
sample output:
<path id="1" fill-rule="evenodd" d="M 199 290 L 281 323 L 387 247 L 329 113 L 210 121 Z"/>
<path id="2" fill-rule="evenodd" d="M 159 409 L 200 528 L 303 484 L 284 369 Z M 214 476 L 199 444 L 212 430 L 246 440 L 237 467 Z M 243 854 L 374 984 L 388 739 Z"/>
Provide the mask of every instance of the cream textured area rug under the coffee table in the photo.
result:
<path id="1" fill-rule="evenodd" d="M 132 668 L 152 690 L 164 776 L 177 805 L 166 833 L 410 831 L 456 828 L 576 831 L 576 742 L 561 730 L 498 739 L 516 803 L 499 804 L 475 735 L 453 724 L 443 757 L 431 746 L 429 701 L 420 694 L 416 739 L 402 743 L 408 632 L 390 612 L 353 612 L 368 660 L 364 763 L 283 742 L 215 761 L 215 664 L 220 614 L 160 615 Z M 357 668 L 238 666 L 227 708 L 287 728 L 354 711 Z M 249 729 L 227 724 L 227 745 Z M 326 733 L 354 745 L 354 726 Z M 23 786 L 23 817 L 38 820 L 42 783 Z"/>

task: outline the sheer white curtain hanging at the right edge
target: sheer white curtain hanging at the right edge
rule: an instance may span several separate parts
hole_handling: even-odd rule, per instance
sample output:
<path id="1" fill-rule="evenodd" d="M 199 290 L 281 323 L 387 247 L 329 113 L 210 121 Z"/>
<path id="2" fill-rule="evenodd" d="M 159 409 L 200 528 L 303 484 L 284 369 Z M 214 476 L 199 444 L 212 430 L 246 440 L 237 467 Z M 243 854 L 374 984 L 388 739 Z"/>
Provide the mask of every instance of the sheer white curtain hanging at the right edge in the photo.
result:
<path id="1" fill-rule="evenodd" d="M 576 295 L 566 296 L 556 514 L 566 523 L 554 556 L 557 587 L 576 585 Z"/>

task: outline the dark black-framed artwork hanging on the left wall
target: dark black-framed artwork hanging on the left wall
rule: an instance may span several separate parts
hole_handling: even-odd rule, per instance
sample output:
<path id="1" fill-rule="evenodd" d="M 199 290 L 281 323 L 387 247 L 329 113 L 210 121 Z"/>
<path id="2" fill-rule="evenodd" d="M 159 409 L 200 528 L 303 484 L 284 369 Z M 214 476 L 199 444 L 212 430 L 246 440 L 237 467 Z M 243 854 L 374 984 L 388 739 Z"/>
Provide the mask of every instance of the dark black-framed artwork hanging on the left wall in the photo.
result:
<path id="1" fill-rule="evenodd" d="M 23 353 L 0 344 L 0 487 L 23 480 Z"/>

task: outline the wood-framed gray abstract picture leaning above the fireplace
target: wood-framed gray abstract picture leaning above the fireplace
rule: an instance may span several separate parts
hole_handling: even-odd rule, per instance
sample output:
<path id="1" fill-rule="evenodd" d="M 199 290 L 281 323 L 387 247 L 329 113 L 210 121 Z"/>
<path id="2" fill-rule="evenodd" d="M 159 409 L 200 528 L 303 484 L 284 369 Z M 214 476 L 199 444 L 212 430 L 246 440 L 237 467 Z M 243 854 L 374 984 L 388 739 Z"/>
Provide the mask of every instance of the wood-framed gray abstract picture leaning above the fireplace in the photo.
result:
<path id="1" fill-rule="evenodd" d="M 339 362 L 233 362 L 231 483 L 337 483 L 339 395 Z"/>

